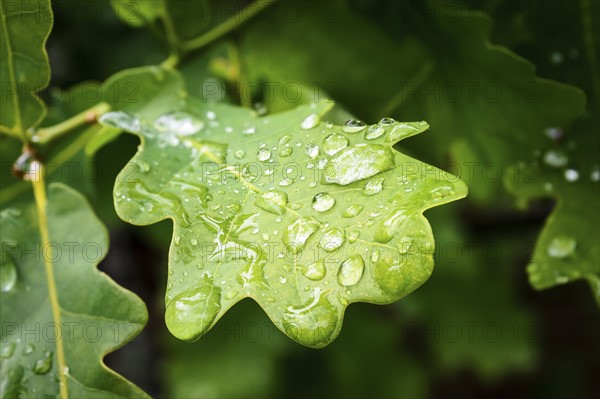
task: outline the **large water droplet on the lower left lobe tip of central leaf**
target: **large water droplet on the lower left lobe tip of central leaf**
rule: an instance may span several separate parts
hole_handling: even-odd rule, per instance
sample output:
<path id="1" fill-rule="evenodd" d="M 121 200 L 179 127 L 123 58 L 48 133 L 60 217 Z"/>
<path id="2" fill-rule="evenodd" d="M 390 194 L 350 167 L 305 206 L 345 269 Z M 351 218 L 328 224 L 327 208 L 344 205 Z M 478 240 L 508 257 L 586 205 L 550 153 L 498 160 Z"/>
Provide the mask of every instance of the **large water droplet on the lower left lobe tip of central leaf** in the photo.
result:
<path id="1" fill-rule="evenodd" d="M 165 321 L 169 331 L 191 341 L 206 332 L 221 310 L 221 288 L 205 276 L 200 286 L 175 296 L 167 304 Z"/>

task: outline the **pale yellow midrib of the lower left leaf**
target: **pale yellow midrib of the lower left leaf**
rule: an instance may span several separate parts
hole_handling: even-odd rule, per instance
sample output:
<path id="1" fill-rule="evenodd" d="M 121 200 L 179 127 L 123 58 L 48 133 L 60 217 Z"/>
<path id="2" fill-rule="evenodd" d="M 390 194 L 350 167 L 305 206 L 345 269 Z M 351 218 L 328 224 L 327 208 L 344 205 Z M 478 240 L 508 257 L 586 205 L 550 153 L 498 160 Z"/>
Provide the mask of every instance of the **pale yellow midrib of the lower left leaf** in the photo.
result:
<path id="1" fill-rule="evenodd" d="M 44 253 L 44 266 L 46 269 L 46 281 L 48 283 L 48 299 L 50 300 L 50 306 L 52 308 L 52 318 L 54 322 L 59 326 L 61 326 L 60 322 L 60 303 L 58 302 L 58 293 L 56 290 L 56 281 L 54 279 L 54 265 L 51 259 L 54 259 L 53 247 L 50 245 L 50 231 L 48 228 L 48 200 L 46 198 L 46 184 L 44 181 L 44 167 L 38 161 L 34 161 L 35 166 L 35 174 L 31 179 L 31 184 L 33 185 L 33 194 L 35 196 L 35 203 L 37 207 L 38 214 L 38 228 L 40 231 L 40 237 L 42 239 L 42 248 L 46 251 L 50 251 Z M 68 387 L 67 387 L 67 377 L 65 375 L 64 370 L 66 370 L 66 361 L 65 361 L 65 350 L 63 347 L 62 335 L 56 341 L 56 357 L 58 359 L 58 378 L 60 381 L 60 398 L 67 399 Z"/>

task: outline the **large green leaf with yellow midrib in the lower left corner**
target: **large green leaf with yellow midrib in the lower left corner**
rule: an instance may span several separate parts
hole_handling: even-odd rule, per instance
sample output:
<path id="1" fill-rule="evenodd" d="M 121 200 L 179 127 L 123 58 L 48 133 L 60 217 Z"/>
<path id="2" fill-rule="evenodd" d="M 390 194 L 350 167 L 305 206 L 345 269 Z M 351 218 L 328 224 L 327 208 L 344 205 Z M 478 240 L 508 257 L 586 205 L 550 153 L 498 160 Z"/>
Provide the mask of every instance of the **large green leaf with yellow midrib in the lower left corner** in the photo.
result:
<path id="1" fill-rule="evenodd" d="M 60 183 L 48 191 L 45 245 L 35 206 L 0 213 L 2 397 L 58 397 L 59 390 L 63 397 L 146 397 L 102 363 L 139 333 L 146 308 L 96 269 L 108 237 L 87 201 Z"/>

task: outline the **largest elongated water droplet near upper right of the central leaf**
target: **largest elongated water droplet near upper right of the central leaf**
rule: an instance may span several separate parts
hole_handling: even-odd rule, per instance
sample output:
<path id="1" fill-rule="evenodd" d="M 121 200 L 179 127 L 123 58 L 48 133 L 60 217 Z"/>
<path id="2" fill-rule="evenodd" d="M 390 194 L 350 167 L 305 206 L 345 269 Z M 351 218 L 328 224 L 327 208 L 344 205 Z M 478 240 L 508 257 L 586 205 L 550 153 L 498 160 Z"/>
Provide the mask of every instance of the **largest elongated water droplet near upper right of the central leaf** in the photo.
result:
<path id="1" fill-rule="evenodd" d="M 323 180 L 325 183 L 345 186 L 390 170 L 394 165 L 394 153 L 389 147 L 357 144 L 331 158 Z"/>

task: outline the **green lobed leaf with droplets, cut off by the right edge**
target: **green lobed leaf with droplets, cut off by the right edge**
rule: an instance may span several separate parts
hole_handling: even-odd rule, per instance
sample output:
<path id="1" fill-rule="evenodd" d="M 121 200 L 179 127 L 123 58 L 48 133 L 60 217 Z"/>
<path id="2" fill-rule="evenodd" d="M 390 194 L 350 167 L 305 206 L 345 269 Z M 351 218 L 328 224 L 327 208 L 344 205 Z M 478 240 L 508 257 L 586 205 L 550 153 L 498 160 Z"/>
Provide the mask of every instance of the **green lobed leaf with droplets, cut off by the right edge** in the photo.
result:
<path id="1" fill-rule="evenodd" d="M 507 188 L 521 202 L 557 200 L 527 267 L 531 285 L 544 289 L 583 279 L 590 283 L 598 303 L 599 145 L 598 121 L 583 120 L 558 141 L 547 137 L 538 158 L 515 165 L 505 178 Z"/>

